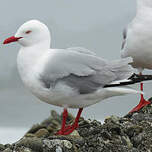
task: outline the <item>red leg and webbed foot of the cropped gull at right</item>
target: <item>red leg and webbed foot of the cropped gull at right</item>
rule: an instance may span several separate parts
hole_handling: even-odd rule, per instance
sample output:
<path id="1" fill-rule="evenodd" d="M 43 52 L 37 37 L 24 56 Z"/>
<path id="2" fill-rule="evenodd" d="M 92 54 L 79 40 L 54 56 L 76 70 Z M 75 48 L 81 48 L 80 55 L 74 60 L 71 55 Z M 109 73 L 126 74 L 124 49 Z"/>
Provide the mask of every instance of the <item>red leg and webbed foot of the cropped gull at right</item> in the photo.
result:
<path id="1" fill-rule="evenodd" d="M 140 73 L 140 75 L 142 75 L 142 73 Z M 143 91 L 143 83 L 142 83 L 142 82 L 140 83 L 140 90 Z M 143 108 L 144 106 L 146 106 L 146 105 L 148 105 L 148 104 L 151 103 L 150 101 L 146 101 L 146 100 L 144 99 L 143 94 L 141 94 L 140 96 L 141 96 L 141 98 L 140 98 L 139 104 L 138 104 L 135 108 L 133 108 L 133 109 L 130 111 L 130 113 L 135 112 L 135 111 L 139 111 L 141 108 Z"/>

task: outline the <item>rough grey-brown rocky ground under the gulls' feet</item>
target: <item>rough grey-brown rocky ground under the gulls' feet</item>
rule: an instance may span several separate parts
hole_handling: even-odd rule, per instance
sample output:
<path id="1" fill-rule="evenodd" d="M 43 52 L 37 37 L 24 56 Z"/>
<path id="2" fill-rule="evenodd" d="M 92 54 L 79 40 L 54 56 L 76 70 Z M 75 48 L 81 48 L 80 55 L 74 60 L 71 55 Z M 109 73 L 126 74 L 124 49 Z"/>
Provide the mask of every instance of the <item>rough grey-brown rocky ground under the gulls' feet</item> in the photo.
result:
<path id="1" fill-rule="evenodd" d="M 61 118 L 52 111 L 16 143 L 0 144 L 0 152 L 152 152 L 152 104 L 124 117 L 110 116 L 104 124 L 81 118 L 71 135 L 55 136 Z M 69 115 L 68 123 L 73 119 Z"/>

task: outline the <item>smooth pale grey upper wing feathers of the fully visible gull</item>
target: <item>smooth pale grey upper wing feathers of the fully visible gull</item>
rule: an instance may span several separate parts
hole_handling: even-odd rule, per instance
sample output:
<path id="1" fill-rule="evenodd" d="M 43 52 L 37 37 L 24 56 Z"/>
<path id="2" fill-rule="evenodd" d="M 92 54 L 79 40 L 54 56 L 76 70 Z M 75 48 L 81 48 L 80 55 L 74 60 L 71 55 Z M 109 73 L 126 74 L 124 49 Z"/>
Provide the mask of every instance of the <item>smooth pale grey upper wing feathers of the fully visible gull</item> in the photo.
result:
<path id="1" fill-rule="evenodd" d="M 71 73 L 88 76 L 100 71 L 106 60 L 97 56 L 70 50 L 51 50 L 50 60 L 46 63 L 41 75 L 55 81 Z"/>

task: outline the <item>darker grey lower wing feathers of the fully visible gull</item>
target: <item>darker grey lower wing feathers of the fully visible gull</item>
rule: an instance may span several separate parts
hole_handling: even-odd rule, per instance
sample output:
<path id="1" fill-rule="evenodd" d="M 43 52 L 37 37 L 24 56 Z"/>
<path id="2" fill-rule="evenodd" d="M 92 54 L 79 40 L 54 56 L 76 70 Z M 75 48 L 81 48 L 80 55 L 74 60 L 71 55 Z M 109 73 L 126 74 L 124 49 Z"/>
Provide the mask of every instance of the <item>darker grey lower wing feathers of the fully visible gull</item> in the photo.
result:
<path id="1" fill-rule="evenodd" d="M 104 87 L 105 84 L 109 84 L 109 82 L 116 79 L 116 75 L 112 71 L 103 68 L 102 72 L 96 71 L 95 74 L 88 76 L 70 74 L 67 77 L 58 79 L 56 83 L 64 83 L 77 90 L 79 94 L 88 94 L 95 92 L 98 88 Z"/>

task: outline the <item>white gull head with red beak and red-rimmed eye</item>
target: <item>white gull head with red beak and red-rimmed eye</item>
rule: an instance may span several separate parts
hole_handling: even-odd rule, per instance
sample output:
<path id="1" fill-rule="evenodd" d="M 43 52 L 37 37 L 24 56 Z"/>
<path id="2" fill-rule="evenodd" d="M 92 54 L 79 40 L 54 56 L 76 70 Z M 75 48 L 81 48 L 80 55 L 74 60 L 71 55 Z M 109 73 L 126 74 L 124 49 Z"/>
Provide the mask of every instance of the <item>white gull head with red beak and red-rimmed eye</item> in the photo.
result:
<path id="1" fill-rule="evenodd" d="M 4 44 L 17 41 L 23 47 L 44 44 L 50 46 L 50 32 L 48 27 L 38 20 L 25 22 L 17 30 L 15 36 L 4 41 Z"/>

